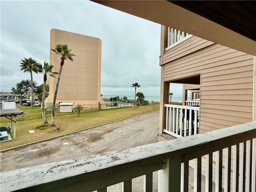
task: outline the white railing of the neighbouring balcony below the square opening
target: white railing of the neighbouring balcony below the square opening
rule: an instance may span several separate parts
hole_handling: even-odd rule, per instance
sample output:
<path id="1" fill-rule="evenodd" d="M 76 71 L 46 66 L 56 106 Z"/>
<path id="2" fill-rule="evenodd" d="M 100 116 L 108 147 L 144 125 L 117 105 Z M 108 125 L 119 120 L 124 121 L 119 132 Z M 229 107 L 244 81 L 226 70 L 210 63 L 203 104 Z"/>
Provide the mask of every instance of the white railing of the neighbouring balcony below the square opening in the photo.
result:
<path id="1" fill-rule="evenodd" d="M 165 104 L 165 133 L 173 137 L 186 137 L 199 133 L 199 107 Z"/>

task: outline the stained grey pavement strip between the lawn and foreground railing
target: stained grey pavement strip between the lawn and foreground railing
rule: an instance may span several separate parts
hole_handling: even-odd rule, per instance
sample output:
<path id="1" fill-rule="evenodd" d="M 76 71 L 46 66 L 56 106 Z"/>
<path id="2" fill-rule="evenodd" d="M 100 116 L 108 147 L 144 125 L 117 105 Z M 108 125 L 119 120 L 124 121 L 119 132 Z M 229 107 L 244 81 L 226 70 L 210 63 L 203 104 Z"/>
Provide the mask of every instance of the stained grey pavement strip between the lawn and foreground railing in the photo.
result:
<path id="1" fill-rule="evenodd" d="M 0 154 L 1 172 L 157 141 L 159 111 L 95 127 Z"/>

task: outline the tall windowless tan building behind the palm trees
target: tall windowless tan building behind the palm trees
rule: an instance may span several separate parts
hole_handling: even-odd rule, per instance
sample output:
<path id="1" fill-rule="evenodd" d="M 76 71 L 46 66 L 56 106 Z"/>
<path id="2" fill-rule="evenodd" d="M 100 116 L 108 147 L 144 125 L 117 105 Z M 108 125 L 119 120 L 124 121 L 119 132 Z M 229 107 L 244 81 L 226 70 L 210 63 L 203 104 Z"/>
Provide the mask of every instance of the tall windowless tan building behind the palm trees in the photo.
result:
<path id="1" fill-rule="evenodd" d="M 103 103 L 100 97 L 101 40 L 51 29 L 50 49 L 57 44 L 68 44 L 76 57 L 73 62 L 65 60 L 56 103 L 74 102 L 75 105 Z M 50 64 L 54 66 L 54 71 L 59 72 L 60 56 L 53 51 L 50 51 Z M 46 106 L 53 102 L 57 83 L 57 78 L 49 77 L 49 79 L 50 90 L 46 98 Z"/>

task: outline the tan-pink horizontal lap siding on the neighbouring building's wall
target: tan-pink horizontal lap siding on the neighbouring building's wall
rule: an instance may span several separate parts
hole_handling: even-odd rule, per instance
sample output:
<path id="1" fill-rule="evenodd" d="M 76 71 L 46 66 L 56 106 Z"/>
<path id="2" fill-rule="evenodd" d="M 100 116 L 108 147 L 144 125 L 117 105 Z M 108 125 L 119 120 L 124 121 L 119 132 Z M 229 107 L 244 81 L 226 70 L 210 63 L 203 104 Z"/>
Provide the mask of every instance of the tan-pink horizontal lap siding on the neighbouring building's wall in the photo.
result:
<path id="1" fill-rule="evenodd" d="M 252 55 L 191 36 L 166 50 L 160 65 L 164 82 L 201 75 L 201 132 L 252 121 Z"/>

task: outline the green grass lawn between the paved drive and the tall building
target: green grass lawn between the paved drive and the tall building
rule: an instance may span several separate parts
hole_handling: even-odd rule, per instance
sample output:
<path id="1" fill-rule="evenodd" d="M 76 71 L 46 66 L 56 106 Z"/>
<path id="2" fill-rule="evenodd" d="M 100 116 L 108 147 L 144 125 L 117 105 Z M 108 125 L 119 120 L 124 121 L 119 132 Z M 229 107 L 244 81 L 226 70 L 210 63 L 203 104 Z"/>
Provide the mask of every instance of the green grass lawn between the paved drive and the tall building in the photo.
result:
<path id="1" fill-rule="evenodd" d="M 37 126 L 42 125 L 42 110 L 40 107 L 31 109 L 30 107 L 18 106 L 21 110 L 28 113 L 22 117 L 17 117 L 17 131 L 16 139 L 1 143 L 0 149 L 7 149 L 19 145 L 23 145 L 29 142 L 38 141 L 55 137 L 61 134 L 86 129 L 88 127 L 97 126 L 120 119 L 137 116 L 149 111 L 159 110 L 159 105 L 140 106 L 140 107 L 129 107 L 122 109 L 111 109 L 111 110 L 84 110 L 80 116 L 77 116 L 77 112 L 74 113 L 59 113 L 55 114 L 56 126 L 46 126 L 41 129 L 36 129 Z M 51 123 L 51 114 L 47 114 L 47 120 Z M 1 117 L 1 126 L 9 126 L 10 120 Z M 60 132 L 56 131 L 56 128 L 60 127 Z M 28 130 L 34 130 L 35 133 L 30 134 Z M 13 134 L 11 133 L 13 138 Z"/>

